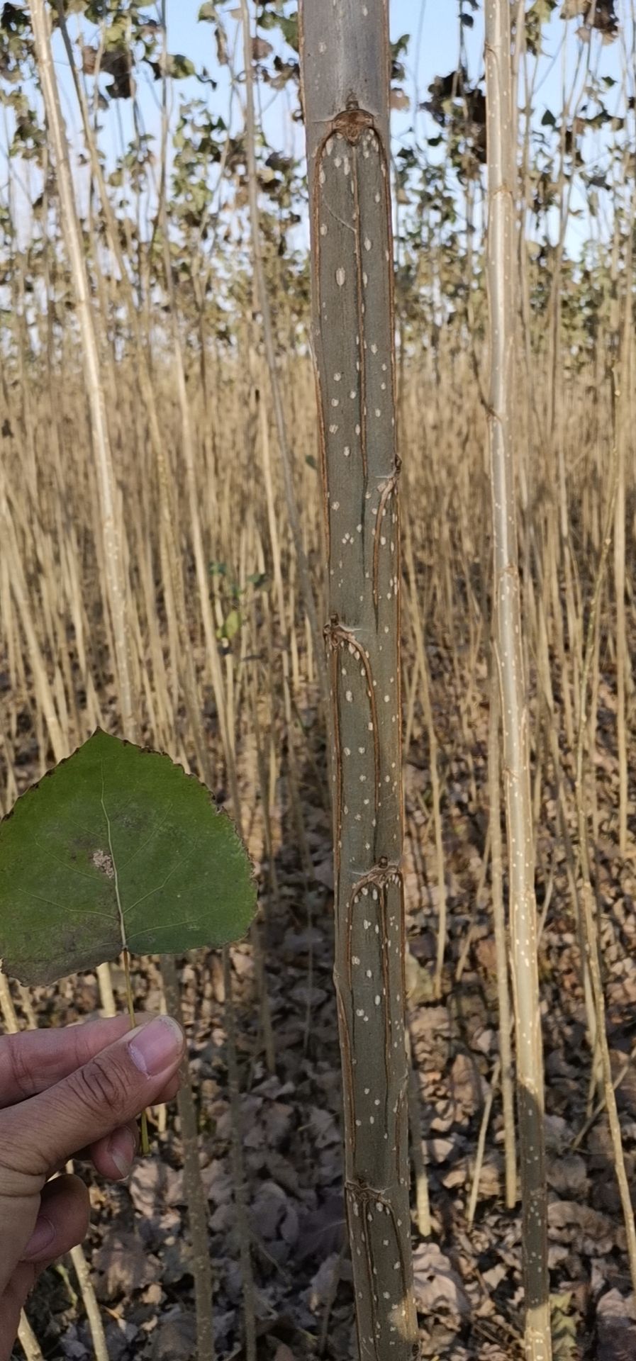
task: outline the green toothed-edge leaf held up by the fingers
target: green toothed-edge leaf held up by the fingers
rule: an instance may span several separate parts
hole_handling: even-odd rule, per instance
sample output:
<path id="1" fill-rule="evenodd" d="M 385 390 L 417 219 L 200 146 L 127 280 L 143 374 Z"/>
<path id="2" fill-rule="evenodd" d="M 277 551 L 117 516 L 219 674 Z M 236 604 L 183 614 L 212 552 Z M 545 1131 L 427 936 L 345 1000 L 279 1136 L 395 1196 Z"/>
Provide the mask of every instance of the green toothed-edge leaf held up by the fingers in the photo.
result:
<path id="1" fill-rule="evenodd" d="M 245 935 L 256 886 L 227 814 L 170 757 L 99 728 L 0 822 L 0 958 L 53 983 Z"/>

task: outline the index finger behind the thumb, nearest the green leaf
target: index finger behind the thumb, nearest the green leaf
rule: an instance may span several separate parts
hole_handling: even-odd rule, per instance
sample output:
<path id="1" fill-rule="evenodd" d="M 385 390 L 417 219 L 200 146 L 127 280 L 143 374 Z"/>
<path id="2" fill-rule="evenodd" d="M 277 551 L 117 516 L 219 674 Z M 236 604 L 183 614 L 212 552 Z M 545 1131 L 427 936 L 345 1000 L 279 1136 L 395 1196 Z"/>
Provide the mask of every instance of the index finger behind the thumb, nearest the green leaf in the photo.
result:
<path id="1" fill-rule="evenodd" d="M 135 1025 L 151 1019 L 150 1013 L 142 1013 L 135 1017 Z M 131 1021 L 123 1013 L 53 1030 L 0 1036 L 0 1109 L 61 1082 L 129 1029 Z"/>

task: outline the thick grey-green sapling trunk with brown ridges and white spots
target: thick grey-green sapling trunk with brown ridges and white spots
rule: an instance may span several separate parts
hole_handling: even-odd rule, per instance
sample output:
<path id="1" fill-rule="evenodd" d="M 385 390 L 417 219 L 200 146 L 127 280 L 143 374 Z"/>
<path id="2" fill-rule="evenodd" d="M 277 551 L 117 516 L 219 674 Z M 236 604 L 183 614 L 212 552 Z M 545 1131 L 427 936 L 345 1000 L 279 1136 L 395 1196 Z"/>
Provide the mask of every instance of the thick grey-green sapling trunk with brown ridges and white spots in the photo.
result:
<path id="1" fill-rule="evenodd" d="M 418 1356 L 404 1045 L 385 0 L 300 7 L 327 528 L 335 988 L 360 1361 Z"/>

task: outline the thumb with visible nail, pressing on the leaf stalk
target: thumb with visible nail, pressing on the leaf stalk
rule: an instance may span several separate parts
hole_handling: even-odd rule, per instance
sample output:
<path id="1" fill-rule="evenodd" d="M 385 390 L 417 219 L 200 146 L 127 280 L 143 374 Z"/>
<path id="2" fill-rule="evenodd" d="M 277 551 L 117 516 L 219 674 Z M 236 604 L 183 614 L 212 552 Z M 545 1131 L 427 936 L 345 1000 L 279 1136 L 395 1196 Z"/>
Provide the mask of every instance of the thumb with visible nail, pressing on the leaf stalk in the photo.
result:
<path id="1" fill-rule="evenodd" d="M 185 1038 L 172 1017 L 129 1030 L 89 1063 L 0 1112 L 0 1296 L 33 1232 L 50 1173 L 153 1105 L 177 1072 Z M 3 1281 L 4 1277 L 4 1281 Z"/>

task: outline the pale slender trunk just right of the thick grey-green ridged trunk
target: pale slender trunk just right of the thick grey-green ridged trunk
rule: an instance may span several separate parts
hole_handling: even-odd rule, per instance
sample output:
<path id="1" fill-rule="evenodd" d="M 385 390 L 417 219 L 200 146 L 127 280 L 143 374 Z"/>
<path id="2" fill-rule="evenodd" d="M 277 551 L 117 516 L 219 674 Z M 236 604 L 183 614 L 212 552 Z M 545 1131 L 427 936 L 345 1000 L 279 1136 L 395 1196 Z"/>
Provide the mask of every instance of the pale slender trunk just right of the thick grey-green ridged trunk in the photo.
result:
<path id="1" fill-rule="evenodd" d="M 493 505 L 493 651 L 500 680 L 511 901 L 527 1361 L 550 1361 L 543 1053 L 537 965 L 528 710 L 522 646 L 513 452 L 515 146 L 508 0 L 488 0 L 489 444 Z"/>

